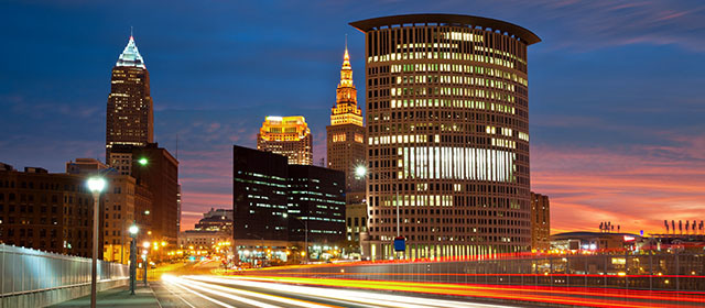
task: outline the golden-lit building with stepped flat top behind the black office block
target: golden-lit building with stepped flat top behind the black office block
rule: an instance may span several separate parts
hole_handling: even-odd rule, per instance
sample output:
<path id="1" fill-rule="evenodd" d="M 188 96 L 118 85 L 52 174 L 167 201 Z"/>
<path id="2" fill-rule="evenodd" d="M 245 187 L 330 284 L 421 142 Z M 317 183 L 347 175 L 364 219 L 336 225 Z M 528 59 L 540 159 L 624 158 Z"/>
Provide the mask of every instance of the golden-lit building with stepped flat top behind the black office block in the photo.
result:
<path id="1" fill-rule="evenodd" d="M 313 165 L 313 139 L 306 119 L 267 117 L 257 134 L 257 150 L 284 155 L 292 165 Z"/>

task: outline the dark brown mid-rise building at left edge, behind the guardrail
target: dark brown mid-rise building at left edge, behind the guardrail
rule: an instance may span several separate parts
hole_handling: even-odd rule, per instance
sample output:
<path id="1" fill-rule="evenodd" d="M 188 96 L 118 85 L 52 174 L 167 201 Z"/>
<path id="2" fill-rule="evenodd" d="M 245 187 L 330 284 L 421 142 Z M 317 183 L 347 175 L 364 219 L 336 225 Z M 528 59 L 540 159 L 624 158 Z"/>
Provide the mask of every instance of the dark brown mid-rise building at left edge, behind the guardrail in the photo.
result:
<path id="1" fill-rule="evenodd" d="M 93 211 L 85 176 L 33 167 L 19 172 L 0 163 L 0 242 L 90 257 Z M 102 250 L 101 235 L 98 242 Z"/>

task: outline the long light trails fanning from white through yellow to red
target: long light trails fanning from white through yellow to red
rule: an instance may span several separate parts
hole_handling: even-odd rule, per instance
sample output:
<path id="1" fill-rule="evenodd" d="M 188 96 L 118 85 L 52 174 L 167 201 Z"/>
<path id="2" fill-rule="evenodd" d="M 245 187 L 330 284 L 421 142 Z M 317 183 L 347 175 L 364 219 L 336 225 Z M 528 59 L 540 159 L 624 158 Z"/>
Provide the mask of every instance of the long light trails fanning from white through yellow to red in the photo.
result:
<path id="1" fill-rule="evenodd" d="M 589 307 L 703 307 L 705 294 L 648 293 L 578 287 L 528 287 L 516 285 L 468 285 L 399 280 L 281 276 L 166 276 L 164 280 L 218 305 L 242 302 L 254 307 L 399 307 L 477 308 L 500 307 L 469 300 L 511 300 L 509 305 L 543 302 Z M 383 292 L 383 293 L 380 293 Z M 394 294 L 390 294 L 392 292 Z M 215 296 L 215 298 L 210 297 Z M 431 296 L 431 298 L 429 298 Z M 434 298 L 455 296 L 457 299 Z M 217 298 L 217 299 L 216 299 Z M 213 300 L 212 300 L 213 299 Z M 214 301 L 216 300 L 216 301 Z M 231 306 L 224 306 L 231 307 Z M 238 306 L 239 307 L 239 306 Z M 509 306 L 505 306 L 509 307 Z"/>

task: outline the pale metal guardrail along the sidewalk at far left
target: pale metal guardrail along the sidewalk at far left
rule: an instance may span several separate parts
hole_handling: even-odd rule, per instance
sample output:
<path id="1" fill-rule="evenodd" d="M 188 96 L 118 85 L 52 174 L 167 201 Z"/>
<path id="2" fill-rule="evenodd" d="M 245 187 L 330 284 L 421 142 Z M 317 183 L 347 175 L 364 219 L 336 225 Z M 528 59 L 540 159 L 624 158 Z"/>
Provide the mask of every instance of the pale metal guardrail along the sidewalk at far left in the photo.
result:
<path id="1" fill-rule="evenodd" d="M 0 297 L 90 284 L 90 258 L 0 244 Z M 98 280 L 129 278 L 128 265 L 98 261 Z"/>

